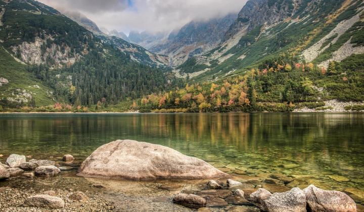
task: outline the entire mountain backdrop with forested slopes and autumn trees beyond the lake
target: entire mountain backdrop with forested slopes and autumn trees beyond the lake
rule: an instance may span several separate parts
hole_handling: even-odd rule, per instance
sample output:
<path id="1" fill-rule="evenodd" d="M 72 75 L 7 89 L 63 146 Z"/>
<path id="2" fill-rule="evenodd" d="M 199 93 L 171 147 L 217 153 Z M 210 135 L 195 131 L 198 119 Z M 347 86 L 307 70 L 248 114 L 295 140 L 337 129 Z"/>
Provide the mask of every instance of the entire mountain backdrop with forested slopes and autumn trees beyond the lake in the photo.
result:
<path id="1" fill-rule="evenodd" d="M 356 0 L 250 0 L 237 16 L 126 37 L 36 1 L 0 1 L 0 110 L 289 112 L 363 101 L 363 10 Z"/>

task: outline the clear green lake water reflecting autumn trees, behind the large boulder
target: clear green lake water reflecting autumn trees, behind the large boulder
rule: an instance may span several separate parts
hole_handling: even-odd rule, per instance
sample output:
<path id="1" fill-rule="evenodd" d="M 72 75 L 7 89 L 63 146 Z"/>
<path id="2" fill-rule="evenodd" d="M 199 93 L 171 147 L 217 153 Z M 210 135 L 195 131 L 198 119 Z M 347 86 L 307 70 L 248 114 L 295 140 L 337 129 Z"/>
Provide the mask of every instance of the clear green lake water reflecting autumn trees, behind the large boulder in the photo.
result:
<path id="1" fill-rule="evenodd" d="M 362 113 L 6 114 L 0 154 L 83 160 L 104 143 L 134 139 L 228 172 L 311 176 L 326 187 L 364 190 L 363 132 Z"/>

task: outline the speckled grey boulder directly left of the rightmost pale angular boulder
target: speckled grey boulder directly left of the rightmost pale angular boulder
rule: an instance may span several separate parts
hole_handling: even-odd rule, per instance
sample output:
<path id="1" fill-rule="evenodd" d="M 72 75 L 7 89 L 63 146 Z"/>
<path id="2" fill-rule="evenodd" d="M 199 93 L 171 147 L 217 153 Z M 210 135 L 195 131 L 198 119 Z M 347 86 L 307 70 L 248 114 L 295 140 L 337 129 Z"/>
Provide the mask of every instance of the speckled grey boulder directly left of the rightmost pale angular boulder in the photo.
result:
<path id="1" fill-rule="evenodd" d="M 274 193 L 264 199 L 261 209 L 269 212 L 306 212 L 306 196 L 297 187 L 283 193 Z"/>

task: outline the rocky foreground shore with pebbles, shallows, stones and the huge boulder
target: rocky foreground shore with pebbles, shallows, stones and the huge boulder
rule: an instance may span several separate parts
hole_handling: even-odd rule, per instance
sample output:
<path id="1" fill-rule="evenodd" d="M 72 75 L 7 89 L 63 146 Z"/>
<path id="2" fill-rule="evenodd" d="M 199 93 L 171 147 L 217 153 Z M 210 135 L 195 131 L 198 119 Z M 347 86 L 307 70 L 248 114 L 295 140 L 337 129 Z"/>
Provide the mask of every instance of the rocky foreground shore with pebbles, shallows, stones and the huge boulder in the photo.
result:
<path id="1" fill-rule="evenodd" d="M 135 156 L 136 159 L 126 158 L 128 156 L 123 156 L 123 152 L 128 152 L 129 156 Z M 138 161 L 139 154 L 145 155 L 142 161 Z M 260 177 L 220 175 L 215 168 L 197 158 L 180 154 L 168 147 L 138 141 L 119 140 L 105 144 L 81 166 L 74 163 L 75 158 L 69 154 L 58 161 L 29 160 L 29 157 L 12 154 L 5 164 L 0 164 L 1 211 L 306 211 L 306 208 L 311 211 L 364 210 L 362 205 L 355 204 L 353 200 L 364 203 L 364 199 L 358 197 L 360 192 L 353 194 L 323 190 L 309 185 L 311 181 L 301 182 L 295 176 L 283 174 L 266 173 Z M 169 157 L 177 157 L 180 165 L 164 164 L 164 161 L 170 162 Z M 136 160 L 136 164 L 147 163 L 146 167 L 141 166 L 142 169 L 138 171 L 140 179 L 145 179 L 145 173 L 154 173 L 152 176 L 155 179 L 129 181 L 116 177 L 118 180 L 113 181 L 103 179 L 104 177 L 100 179 L 99 176 L 76 176 L 76 169 L 82 172 L 85 167 L 91 166 L 95 171 L 99 163 L 101 167 L 107 167 L 109 174 L 122 174 L 125 177 L 128 176 L 127 173 L 135 172 L 134 169 L 118 172 L 119 163 L 128 160 Z M 178 172 L 178 169 L 198 169 L 194 165 L 201 164 L 204 164 L 205 171 L 209 170 L 208 173 L 218 173 L 220 176 L 196 177 L 198 180 L 191 180 L 193 172 L 189 172 L 190 180 L 184 180 L 178 177 L 172 179 L 168 175 L 170 172 Z M 184 166 L 188 169 L 183 168 Z M 105 170 L 103 172 L 108 174 Z M 92 172 L 88 169 L 88 173 Z M 166 176 L 165 180 L 161 180 L 160 176 Z"/>

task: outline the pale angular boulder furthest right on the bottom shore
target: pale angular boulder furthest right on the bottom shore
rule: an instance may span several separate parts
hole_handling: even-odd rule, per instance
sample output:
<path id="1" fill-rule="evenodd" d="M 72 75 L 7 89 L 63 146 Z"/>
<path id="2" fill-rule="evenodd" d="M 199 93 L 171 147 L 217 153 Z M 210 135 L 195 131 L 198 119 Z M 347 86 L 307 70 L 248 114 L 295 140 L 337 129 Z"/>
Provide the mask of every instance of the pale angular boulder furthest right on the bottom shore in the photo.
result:
<path id="1" fill-rule="evenodd" d="M 340 191 L 326 191 L 310 185 L 303 189 L 311 211 L 356 211 L 356 205 L 348 195 Z"/>

